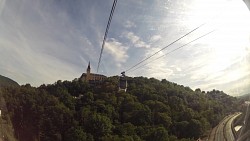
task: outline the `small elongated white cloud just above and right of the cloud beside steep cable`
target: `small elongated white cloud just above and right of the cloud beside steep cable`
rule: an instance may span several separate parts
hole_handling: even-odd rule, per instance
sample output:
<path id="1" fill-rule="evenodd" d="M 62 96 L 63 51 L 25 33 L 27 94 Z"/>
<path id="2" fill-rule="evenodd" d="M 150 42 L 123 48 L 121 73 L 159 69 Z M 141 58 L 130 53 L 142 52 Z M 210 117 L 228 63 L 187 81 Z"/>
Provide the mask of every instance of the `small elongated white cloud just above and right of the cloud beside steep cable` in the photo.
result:
<path id="1" fill-rule="evenodd" d="M 133 46 L 138 47 L 138 48 L 149 48 L 150 45 L 142 41 L 142 39 L 135 35 L 133 32 L 124 32 L 122 36 L 126 37 L 129 39 L 129 41 L 133 44 Z"/>

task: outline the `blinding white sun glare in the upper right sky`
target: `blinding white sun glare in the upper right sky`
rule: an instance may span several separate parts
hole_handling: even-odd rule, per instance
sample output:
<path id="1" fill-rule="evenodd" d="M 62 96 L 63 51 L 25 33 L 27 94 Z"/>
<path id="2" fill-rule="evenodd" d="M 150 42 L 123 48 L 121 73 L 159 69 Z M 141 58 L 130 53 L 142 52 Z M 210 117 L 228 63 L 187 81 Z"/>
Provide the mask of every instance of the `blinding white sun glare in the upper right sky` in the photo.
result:
<path id="1" fill-rule="evenodd" d="M 207 40 L 207 44 L 213 50 L 208 64 L 210 72 L 223 71 L 236 62 L 244 61 L 250 48 L 250 12 L 244 2 L 196 0 L 193 5 L 193 14 L 189 19 L 191 26 L 207 21 L 209 26 L 206 27 L 212 26 L 216 29 Z"/>

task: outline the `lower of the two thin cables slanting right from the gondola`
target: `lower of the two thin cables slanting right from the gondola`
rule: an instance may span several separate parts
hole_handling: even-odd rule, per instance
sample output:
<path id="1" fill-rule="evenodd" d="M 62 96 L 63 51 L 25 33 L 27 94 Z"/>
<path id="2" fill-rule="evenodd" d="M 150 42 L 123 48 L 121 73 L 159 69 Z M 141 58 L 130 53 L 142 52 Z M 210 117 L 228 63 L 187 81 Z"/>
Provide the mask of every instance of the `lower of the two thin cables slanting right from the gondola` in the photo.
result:
<path id="1" fill-rule="evenodd" d="M 203 34 L 202 36 L 200 36 L 200 37 L 198 37 L 198 38 L 196 38 L 196 39 L 194 39 L 194 40 L 192 40 L 192 41 L 190 41 L 190 42 L 188 42 L 188 43 L 186 43 L 186 44 L 184 44 L 184 45 L 182 45 L 182 46 L 180 46 L 180 47 L 178 47 L 178 48 L 176 48 L 176 49 L 174 49 L 174 50 L 172 50 L 172 51 L 170 51 L 170 52 L 168 52 L 168 53 L 166 53 L 166 54 L 164 54 L 164 55 L 162 55 L 162 56 L 160 56 L 160 57 L 158 57 L 158 58 L 155 58 L 154 60 L 152 60 L 152 61 L 150 61 L 150 62 L 148 62 L 148 63 L 145 63 L 145 64 L 143 64 L 143 65 L 141 65 L 141 66 L 135 68 L 134 70 L 131 70 L 131 72 L 133 72 L 133 71 L 135 71 L 135 70 L 138 70 L 139 68 L 142 68 L 142 67 L 146 66 L 147 64 L 150 64 L 150 63 L 152 63 L 152 62 L 154 62 L 154 61 L 156 61 L 156 60 L 158 60 L 158 59 L 160 59 L 160 58 L 162 58 L 162 57 L 164 57 L 164 56 L 167 56 L 168 54 L 173 53 L 173 52 L 175 52 L 175 51 L 177 51 L 177 50 L 179 50 L 179 49 L 181 49 L 181 48 L 183 48 L 183 47 L 189 45 L 190 43 L 195 42 L 195 41 L 197 41 L 197 40 L 199 40 L 199 39 L 201 39 L 201 38 L 203 38 L 203 37 L 205 37 L 205 36 L 211 34 L 211 33 L 214 32 L 214 31 L 215 31 L 215 29 L 212 30 L 212 31 L 210 31 L 210 32 L 208 32 L 208 33 L 206 33 L 206 34 Z"/>

